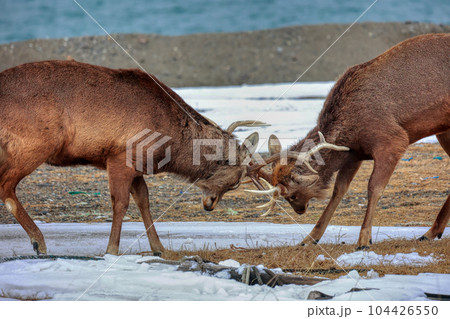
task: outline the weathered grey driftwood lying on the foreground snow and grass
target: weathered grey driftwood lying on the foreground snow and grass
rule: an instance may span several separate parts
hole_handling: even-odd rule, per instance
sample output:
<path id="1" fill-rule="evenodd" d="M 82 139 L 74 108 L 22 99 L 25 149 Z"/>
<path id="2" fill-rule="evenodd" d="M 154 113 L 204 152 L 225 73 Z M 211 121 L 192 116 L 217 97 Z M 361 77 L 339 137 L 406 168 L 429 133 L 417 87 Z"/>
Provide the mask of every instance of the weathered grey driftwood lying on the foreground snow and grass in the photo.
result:
<path id="1" fill-rule="evenodd" d="M 204 261 L 199 256 L 184 257 L 180 261 L 169 261 L 164 259 L 151 259 L 141 263 L 162 263 L 169 265 L 178 265 L 179 271 L 198 271 L 211 276 L 216 276 L 219 273 L 224 274 L 221 278 L 229 277 L 236 281 L 245 283 L 247 285 L 267 285 L 269 287 L 283 286 L 283 285 L 315 285 L 327 279 L 308 278 L 302 276 L 294 276 L 285 273 L 274 273 L 270 269 L 263 267 L 256 267 L 251 265 L 244 265 L 239 268 L 218 265 L 210 261 Z"/>

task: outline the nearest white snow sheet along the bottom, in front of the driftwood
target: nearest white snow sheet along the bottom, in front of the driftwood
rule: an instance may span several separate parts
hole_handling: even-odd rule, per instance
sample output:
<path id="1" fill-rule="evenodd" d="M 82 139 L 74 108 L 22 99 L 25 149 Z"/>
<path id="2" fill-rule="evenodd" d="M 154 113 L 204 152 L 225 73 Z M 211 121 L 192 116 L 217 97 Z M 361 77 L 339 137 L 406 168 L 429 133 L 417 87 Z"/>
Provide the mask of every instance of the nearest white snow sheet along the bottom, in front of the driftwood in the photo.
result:
<path id="1" fill-rule="evenodd" d="M 334 300 L 426 300 L 424 292 L 450 293 L 450 275 L 445 274 L 361 278 L 354 270 L 314 286 L 268 288 L 180 272 L 173 265 L 138 264 L 141 259 L 107 255 L 104 261 L 6 262 L 0 264 L 0 294 L 51 300 L 304 300 L 319 290 Z M 375 290 L 349 293 L 352 288 Z"/>

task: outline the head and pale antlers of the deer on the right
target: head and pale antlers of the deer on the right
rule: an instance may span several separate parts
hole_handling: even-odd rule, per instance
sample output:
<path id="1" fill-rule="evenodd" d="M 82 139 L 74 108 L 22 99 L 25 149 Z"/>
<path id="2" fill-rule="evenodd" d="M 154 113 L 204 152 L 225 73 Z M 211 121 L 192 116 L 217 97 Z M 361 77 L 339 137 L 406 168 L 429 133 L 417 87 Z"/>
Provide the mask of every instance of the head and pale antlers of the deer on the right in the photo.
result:
<path id="1" fill-rule="evenodd" d="M 317 172 L 309 163 L 311 156 L 322 149 L 332 149 L 336 151 L 348 151 L 345 146 L 337 146 L 327 143 L 321 132 L 318 132 L 320 142 L 304 153 L 282 151 L 281 143 L 275 135 L 269 138 L 270 157 L 264 163 L 252 165 L 249 167 L 247 175 L 252 179 L 253 183 L 259 190 L 247 190 L 254 194 L 271 194 L 271 200 L 259 207 L 268 207 L 268 210 L 262 215 L 269 214 L 277 203 L 279 196 L 284 197 L 294 211 L 303 214 L 308 208 L 308 203 L 313 197 L 323 197 L 324 187 L 320 180 L 320 173 Z M 272 164 L 272 174 L 267 174 L 261 169 Z M 259 179 L 268 186 L 264 190 Z"/>

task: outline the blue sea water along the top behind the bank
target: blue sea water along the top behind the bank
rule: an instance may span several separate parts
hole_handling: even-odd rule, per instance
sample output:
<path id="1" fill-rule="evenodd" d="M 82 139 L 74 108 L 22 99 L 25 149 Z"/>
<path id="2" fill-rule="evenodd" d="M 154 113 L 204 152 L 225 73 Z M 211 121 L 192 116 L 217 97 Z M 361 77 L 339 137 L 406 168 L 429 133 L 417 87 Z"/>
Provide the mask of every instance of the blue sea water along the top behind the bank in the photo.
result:
<path id="1" fill-rule="evenodd" d="M 0 0 L 0 43 L 33 38 L 234 32 L 352 23 L 375 0 Z M 450 0 L 378 0 L 360 21 L 450 24 Z"/>

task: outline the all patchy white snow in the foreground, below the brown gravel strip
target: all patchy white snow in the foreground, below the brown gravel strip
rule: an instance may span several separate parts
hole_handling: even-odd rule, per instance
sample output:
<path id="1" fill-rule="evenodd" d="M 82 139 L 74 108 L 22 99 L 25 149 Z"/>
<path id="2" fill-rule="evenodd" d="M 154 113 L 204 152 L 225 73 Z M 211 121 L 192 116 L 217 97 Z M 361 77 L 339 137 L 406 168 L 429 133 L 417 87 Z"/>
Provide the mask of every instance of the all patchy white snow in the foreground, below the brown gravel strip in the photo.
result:
<path id="1" fill-rule="evenodd" d="M 47 246 L 52 254 L 103 255 L 110 223 L 105 224 L 40 224 Z M 167 247 L 182 248 L 183 243 L 192 240 L 198 248 L 257 247 L 265 244 L 258 238 L 268 239 L 269 245 L 298 243 L 313 225 L 285 225 L 268 223 L 157 223 L 156 228 Z M 415 238 L 422 235 L 425 227 L 379 227 L 376 241 L 389 238 Z M 141 223 L 124 223 L 121 251 L 134 245 L 127 254 L 147 250 L 146 238 L 136 236 L 143 232 Z M 357 240 L 359 227 L 330 226 L 323 242 L 347 243 Z M 444 233 L 448 236 L 449 229 Z M 19 225 L 0 225 L 0 256 L 32 255 L 31 245 Z M 322 242 L 322 241 L 321 241 Z M 362 254 L 362 255 L 360 255 Z M 367 254 L 367 257 L 364 257 Z M 323 252 L 328 258 L 327 253 Z M 438 257 L 428 258 L 416 254 L 396 254 L 394 261 L 438 262 Z M 403 257 L 407 257 L 404 259 Z M 450 294 L 450 275 L 420 274 L 418 276 L 386 275 L 378 278 L 372 272 L 361 278 L 356 271 L 336 280 L 329 280 L 314 286 L 287 285 L 276 288 L 247 286 L 227 279 L 199 273 L 179 272 L 177 266 L 164 264 L 139 264 L 138 261 L 157 257 L 105 256 L 105 260 L 16 260 L 0 263 L 0 296 L 10 299 L 51 300 L 304 300 L 312 290 L 335 296 L 333 300 L 426 300 L 424 292 Z M 379 256 L 371 252 L 357 252 L 343 255 L 338 261 L 391 260 L 391 256 Z M 391 262 L 394 262 L 391 261 Z M 234 260 L 222 264 L 237 267 Z M 356 265 L 356 264 L 352 264 Z M 259 268 L 262 266 L 260 265 Z M 280 271 L 275 270 L 275 271 Z M 349 293 L 352 288 L 375 288 Z M 85 294 L 84 291 L 87 290 Z M 1 298 L 0 297 L 0 300 Z"/>

